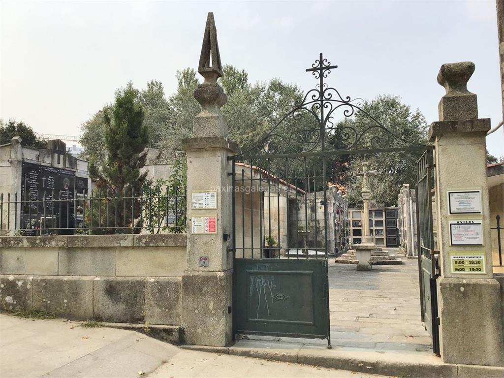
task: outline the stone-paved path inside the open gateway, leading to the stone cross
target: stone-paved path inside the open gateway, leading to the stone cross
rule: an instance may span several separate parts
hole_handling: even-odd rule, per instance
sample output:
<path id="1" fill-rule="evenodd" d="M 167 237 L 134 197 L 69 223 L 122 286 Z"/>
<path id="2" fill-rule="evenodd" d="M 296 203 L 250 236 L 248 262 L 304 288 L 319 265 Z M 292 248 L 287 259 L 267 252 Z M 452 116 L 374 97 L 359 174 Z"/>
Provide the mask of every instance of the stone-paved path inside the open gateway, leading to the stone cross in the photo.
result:
<path id="1" fill-rule="evenodd" d="M 332 345 L 431 354 L 420 318 L 418 262 L 403 261 L 371 271 L 329 262 Z"/>

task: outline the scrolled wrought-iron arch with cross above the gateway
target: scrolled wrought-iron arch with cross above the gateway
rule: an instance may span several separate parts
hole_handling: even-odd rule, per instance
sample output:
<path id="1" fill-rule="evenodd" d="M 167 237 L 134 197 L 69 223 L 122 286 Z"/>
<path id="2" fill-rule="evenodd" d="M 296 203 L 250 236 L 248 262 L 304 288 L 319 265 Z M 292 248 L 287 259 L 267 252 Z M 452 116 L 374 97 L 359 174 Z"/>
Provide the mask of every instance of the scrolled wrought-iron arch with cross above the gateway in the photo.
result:
<path id="1" fill-rule="evenodd" d="M 244 152 L 236 155 L 233 159 L 237 157 L 241 158 L 257 158 L 260 155 L 268 155 L 270 157 L 284 157 L 285 154 L 278 153 L 275 148 L 278 146 L 278 142 L 274 141 L 276 138 L 283 141 L 285 146 L 288 147 L 293 154 L 306 154 L 306 156 L 312 155 L 312 153 L 337 153 L 341 155 L 352 154 L 352 153 L 364 153 L 363 151 L 377 152 L 380 150 L 383 152 L 394 152 L 399 151 L 397 148 L 390 148 L 393 142 L 401 142 L 403 145 L 400 147 L 400 151 L 404 150 L 422 150 L 428 147 L 425 144 L 419 144 L 416 142 L 408 141 L 407 139 L 397 135 L 392 130 L 385 127 L 374 115 L 370 114 L 366 109 L 363 108 L 364 100 L 360 97 L 351 98 L 350 96 L 343 97 L 340 92 L 334 88 L 329 87 L 325 82 L 330 74 L 331 70 L 338 68 L 338 66 L 332 66 L 323 54 L 320 54 L 319 59 L 317 59 L 311 68 L 306 69 L 306 72 L 311 72 L 312 75 L 319 80 L 319 84 L 315 88 L 307 91 L 302 100 L 295 101 L 293 105 L 288 106 L 285 109 L 285 113 L 281 118 L 275 123 L 274 127 L 268 132 L 260 142 Z M 370 122 L 372 122 L 369 127 L 364 130 L 356 130 L 355 128 L 343 125 L 338 127 L 335 125 L 335 115 L 336 110 L 340 109 L 345 118 L 350 118 L 356 112 L 364 114 Z M 295 133 L 291 135 L 283 135 L 278 133 L 279 126 L 292 117 L 295 121 L 301 120 L 303 113 L 309 114 L 313 117 L 313 127 L 309 129 L 296 129 Z M 301 146 L 306 148 L 296 147 L 293 143 L 292 138 L 305 138 L 305 141 Z M 367 138 L 368 146 L 362 144 L 362 142 Z M 338 151 L 326 150 L 326 142 L 338 142 L 341 146 Z M 360 148 L 359 148 L 360 146 Z M 254 153 L 256 151 L 256 153 Z M 262 154 L 257 154 L 257 151 L 262 151 Z"/>

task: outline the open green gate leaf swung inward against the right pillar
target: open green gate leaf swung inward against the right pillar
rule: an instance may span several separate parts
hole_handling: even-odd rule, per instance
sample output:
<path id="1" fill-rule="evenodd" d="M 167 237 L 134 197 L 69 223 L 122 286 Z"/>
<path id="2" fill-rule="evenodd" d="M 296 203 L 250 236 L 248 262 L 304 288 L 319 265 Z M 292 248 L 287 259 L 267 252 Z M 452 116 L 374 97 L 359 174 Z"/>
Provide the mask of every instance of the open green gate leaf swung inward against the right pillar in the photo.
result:
<path id="1" fill-rule="evenodd" d="M 424 152 L 417 163 L 417 238 L 418 273 L 422 322 L 432 338 L 432 350 L 439 355 L 439 319 L 437 313 L 438 260 L 432 222 L 432 190 L 434 187 L 432 150 Z"/>

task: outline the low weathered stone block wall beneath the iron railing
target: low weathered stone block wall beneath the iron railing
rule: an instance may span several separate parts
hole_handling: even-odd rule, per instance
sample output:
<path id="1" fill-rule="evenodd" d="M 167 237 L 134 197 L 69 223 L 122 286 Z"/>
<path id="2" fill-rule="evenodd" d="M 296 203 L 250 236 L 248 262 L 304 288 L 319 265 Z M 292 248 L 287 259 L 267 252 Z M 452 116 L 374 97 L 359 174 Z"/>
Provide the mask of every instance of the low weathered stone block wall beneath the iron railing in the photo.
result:
<path id="1" fill-rule="evenodd" d="M 0 237 L 0 310 L 180 325 L 185 234 Z"/>

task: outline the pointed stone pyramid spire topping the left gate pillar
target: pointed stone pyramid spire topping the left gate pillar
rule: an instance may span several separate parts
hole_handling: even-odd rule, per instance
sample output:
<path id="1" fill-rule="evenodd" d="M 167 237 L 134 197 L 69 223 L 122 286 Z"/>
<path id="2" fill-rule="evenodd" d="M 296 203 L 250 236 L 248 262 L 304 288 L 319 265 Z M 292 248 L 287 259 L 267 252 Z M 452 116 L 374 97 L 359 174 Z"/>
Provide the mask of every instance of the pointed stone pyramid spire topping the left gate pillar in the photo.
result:
<path id="1" fill-rule="evenodd" d="M 205 78 L 205 84 L 217 83 L 223 75 L 213 12 L 208 12 L 198 72 Z"/>

